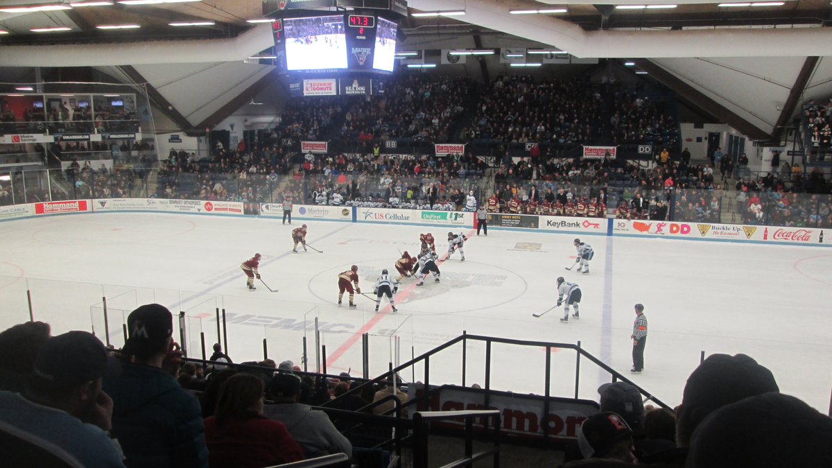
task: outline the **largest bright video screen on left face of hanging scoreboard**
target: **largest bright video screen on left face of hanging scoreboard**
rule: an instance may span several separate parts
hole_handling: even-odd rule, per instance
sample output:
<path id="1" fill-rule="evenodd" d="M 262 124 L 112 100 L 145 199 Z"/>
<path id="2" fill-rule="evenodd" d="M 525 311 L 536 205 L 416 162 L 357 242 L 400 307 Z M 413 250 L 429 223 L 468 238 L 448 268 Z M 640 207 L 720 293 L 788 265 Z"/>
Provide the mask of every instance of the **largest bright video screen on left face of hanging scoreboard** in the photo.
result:
<path id="1" fill-rule="evenodd" d="M 288 70 L 347 67 L 344 15 L 286 18 L 283 30 Z"/>

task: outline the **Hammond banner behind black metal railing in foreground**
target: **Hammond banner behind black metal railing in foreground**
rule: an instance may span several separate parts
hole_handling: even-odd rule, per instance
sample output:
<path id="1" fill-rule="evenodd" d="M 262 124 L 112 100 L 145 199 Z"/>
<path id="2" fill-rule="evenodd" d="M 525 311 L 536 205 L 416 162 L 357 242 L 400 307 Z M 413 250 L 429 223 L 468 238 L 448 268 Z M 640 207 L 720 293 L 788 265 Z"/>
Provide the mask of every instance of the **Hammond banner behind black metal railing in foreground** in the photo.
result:
<path id="1" fill-rule="evenodd" d="M 435 387 L 431 386 L 431 389 Z M 409 399 L 416 399 L 423 395 L 423 384 L 408 386 Z M 443 388 L 441 392 L 433 393 L 421 411 L 471 411 L 471 410 L 499 410 L 502 414 L 500 431 L 509 436 L 534 437 L 542 436 L 543 428 L 548 428 L 549 437 L 560 441 L 574 441 L 577 439 L 581 423 L 598 412 L 598 404 L 589 400 L 572 400 L 568 398 L 550 398 L 549 412 L 544 412 L 545 400 L 540 396 L 523 396 L 517 393 L 492 391 L 488 400 L 488 407 L 483 405 L 481 391 L 464 387 Z M 479 419 L 474 420 L 475 426 L 483 426 Z M 433 422 L 432 424 L 438 424 Z M 442 421 L 442 426 L 465 426 L 463 421 Z"/>

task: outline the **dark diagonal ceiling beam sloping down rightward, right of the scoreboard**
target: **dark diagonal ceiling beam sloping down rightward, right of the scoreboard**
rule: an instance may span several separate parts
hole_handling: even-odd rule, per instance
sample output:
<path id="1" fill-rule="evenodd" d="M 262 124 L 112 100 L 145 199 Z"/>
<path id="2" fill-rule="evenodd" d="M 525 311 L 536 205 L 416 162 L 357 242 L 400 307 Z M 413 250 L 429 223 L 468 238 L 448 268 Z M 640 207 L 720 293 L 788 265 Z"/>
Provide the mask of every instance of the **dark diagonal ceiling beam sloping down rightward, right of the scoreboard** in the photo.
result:
<path id="1" fill-rule="evenodd" d="M 751 140 L 760 141 L 769 139 L 770 136 L 768 133 L 760 130 L 760 128 L 756 127 L 753 123 L 748 122 L 744 118 L 736 115 L 734 112 L 731 112 L 719 102 L 714 101 L 711 97 L 707 97 L 695 87 L 692 87 L 682 81 L 680 78 L 676 77 L 671 72 L 666 71 L 664 68 L 659 67 L 651 60 L 640 58 L 633 60 L 633 62 L 636 62 L 636 67 L 650 73 L 650 76 L 657 82 L 661 82 L 661 84 L 676 91 L 681 97 L 684 97 L 694 105 L 701 107 L 702 110 L 716 117 L 720 122 L 726 122 L 728 125 L 739 130 Z"/>

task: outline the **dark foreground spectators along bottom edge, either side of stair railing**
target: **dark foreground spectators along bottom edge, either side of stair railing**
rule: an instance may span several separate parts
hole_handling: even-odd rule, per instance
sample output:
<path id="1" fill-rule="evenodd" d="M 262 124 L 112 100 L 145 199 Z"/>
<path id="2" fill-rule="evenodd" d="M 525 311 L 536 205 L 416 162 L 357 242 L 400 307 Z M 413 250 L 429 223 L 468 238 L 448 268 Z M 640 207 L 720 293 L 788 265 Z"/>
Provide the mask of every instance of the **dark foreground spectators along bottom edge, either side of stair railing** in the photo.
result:
<path id="1" fill-rule="evenodd" d="M 389 463 L 362 448 L 389 431 L 364 424 L 348 438 L 348 419 L 315 407 L 394 414 L 390 396 L 409 401 L 398 378 L 349 392 L 360 380 L 348 373 L 327 378 L 269 359 L 235 365 L 219 344 L 210 365 L 183 365 L 166 307 L 140 306 L 127 326 L 121 350 L 86 331 L 51 336 L 42 322 L 0 332 L 0 434 L 15 441 L 4 445 L 7 464 L 256 467 L 334 453 L 358 466 Z M 598 395 L 600 411 L 582 421 L 564 468 L 818 466 L 832 458 L 832 419 L 781 394 L 772 372 L 743 354 L 708 356 L 672 411 L 645 405 L 623 381 Z"/>

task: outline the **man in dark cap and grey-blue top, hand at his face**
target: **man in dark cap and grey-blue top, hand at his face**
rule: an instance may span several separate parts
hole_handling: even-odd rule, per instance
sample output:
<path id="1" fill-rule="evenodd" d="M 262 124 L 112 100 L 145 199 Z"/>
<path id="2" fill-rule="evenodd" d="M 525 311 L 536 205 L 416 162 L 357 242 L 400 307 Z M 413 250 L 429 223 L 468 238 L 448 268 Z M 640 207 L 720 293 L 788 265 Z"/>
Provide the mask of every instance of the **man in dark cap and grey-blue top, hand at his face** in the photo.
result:
<path id="1" fill-rule="evenodd" d="M 112 400 L 102 391 L 102 377 L 117 371 L 118 362 L 92 334 L 55 336 L 38 351 L 23 393 L 0 391 L 0 423 L 66 461 L 64 466 L 123 467 L 124 457 L 106 433 Z M 4 466 L 12 463 L 7 449 Z"/>

